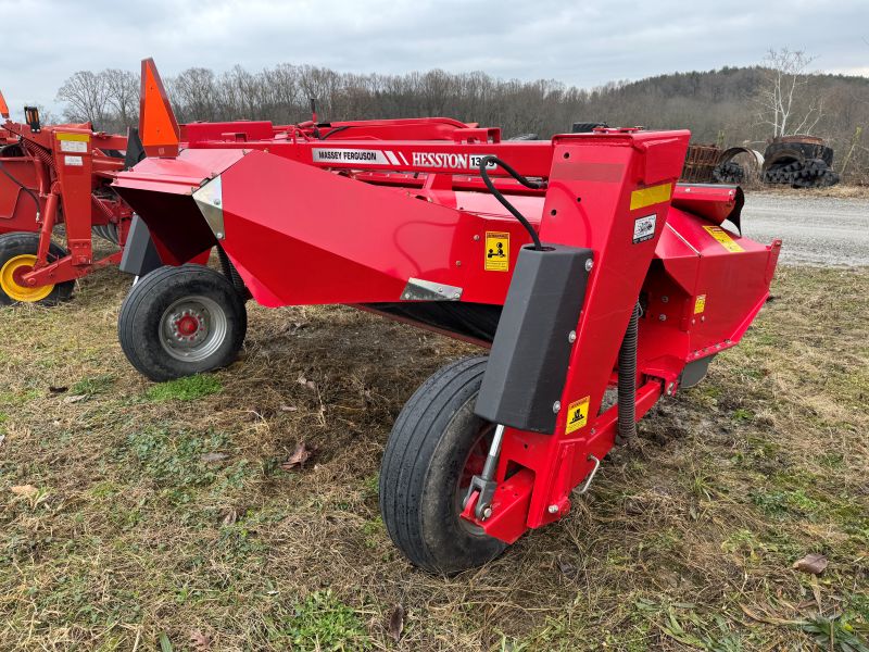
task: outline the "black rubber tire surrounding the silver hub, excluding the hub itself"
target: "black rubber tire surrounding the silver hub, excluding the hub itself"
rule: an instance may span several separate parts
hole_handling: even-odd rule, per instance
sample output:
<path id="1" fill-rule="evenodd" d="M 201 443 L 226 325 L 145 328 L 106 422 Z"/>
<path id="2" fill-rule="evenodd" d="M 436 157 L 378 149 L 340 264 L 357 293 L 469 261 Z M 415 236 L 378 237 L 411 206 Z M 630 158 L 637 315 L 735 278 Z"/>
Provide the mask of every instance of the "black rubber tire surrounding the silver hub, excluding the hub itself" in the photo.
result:
<path id="1" fill-rule="evenodd" d="M 215 301 L 227 321 L 227 333 L 221 346 L 198 362 L 176 360 L 160 342 L 163 314 L 186 296 L 202 296 Z M 247 330 L 244 301 L 232 283 L 203 265 L 160 267 L 141 277 L 124 299 L 117 317 L 117 337 L 127 360 L 138 372 L 158 383 L 231 364 L 241 350 Z"/>

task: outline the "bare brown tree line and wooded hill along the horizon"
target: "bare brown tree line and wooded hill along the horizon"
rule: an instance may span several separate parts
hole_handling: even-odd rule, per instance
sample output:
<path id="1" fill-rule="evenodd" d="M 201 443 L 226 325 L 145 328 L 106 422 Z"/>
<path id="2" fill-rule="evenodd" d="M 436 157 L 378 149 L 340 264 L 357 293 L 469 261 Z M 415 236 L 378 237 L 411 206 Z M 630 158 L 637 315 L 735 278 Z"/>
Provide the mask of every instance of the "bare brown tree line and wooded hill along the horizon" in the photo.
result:
<path id="1" fill-rule="evenodd" d="M 441 70 L 402 75 L 339 73 L 313 65 L 278 64 L 257 72 L 239 65 L 223 73 L 188 68 L 166 79 L 181 122 L 320 121 L 449 116 L 502 127 L 505 137 L 547 138 L 574 122 L 612 126 L 689 128 L 694 142 L 746 145 L 789 128 L 821 136 L 847 160 L 847 176 L 869 176 L 869 79 L 809 74 L 803 52 L 770 51 L 761 65 L 676 73 L 583 89 L 554 79 L 501 79 L 482 72 Z M 81 71 L 58 91 L 64 118 L 123 131 L 138 122 L 139 75 L 109 68 Z M 790 103 L 786 103 L 790 101 Z M 785 115 L 786 113 L 786 115 Z M 782 124 L 784 123 L 784 124 Z"/>

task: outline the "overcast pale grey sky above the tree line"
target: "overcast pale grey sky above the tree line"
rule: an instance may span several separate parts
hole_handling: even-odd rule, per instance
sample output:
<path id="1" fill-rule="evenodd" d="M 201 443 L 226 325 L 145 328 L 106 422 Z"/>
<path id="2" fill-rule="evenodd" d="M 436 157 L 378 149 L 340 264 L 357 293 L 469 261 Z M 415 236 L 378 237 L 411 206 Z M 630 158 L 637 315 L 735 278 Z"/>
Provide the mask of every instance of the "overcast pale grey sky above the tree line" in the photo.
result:
<path id="1" fill-rule="evenodd" d="M 869 0 L 0 0 L 0 89 L 16 114 L 56 109 L 72 73 L 164 76 L 310 63 L 357 73 L 434 67 L 592 87 L 751 65 L 804 49 L 827 72 L 869 75 Z"/>

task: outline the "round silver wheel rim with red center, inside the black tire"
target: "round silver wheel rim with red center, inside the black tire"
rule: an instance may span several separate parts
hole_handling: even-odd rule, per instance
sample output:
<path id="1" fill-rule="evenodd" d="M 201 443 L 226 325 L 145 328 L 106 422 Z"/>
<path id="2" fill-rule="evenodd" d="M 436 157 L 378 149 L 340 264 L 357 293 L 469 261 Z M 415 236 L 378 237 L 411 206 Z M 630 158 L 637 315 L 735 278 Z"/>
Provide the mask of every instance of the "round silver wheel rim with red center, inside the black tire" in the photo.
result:
<path id="1" fill-rule="evenodd" d="M 207 297 L 185 297 L 169 305 L 160 318 L 160 343 L 175 360 L 201 362 L 226 339 L 226 312 Z"/>

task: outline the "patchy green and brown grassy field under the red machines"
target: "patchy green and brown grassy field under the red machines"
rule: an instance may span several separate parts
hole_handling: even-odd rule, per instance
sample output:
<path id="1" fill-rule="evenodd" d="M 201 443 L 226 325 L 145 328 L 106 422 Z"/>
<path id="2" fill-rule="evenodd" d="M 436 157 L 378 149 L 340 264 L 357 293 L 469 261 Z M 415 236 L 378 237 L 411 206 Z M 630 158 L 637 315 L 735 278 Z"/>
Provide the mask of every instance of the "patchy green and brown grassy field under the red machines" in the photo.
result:
<path id="1" fill-rule="evenodd" d="M 0 314 L 2 651 L 867 649 L 869 269 L 780 269 L 568 518 L 453 578 L 393 548 L 377 474 L 471 348 L 251 306 L 236 365 L 153 385 L 117 344 L 127 283 Z M 821 575 L 792 568 L 813 552 Z"/>

